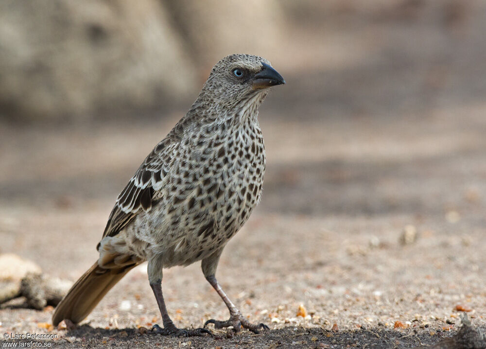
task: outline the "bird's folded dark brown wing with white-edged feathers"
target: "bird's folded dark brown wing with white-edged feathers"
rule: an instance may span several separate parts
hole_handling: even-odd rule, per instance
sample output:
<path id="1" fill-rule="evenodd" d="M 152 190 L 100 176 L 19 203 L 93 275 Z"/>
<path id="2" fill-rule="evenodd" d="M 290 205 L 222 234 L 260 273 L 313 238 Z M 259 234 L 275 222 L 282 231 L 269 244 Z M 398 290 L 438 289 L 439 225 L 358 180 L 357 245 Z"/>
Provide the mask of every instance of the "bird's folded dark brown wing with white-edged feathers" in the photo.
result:
<path id="1" fill-rule="evenodd" d="M 118 195 L 110 213 L 103 237 L 114 236 L 126 227 L 139 212 L 152 208 L 154 193 L 160 190 L 162 180 L 169 172 L 176 142 L 169 137 L 156 145 Z"/>

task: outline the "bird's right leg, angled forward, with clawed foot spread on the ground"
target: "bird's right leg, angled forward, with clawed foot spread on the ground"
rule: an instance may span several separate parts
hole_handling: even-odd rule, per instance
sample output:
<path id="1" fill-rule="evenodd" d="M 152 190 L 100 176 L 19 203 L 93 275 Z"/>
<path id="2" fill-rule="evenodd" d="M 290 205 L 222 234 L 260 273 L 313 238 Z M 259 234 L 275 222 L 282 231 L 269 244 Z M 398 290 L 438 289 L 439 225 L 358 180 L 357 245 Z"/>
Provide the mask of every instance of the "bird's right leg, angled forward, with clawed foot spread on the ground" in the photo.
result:
<path id="1" fill-rule="evenodd" d="M 208 324 L 214 324 L 215 329 L 222 329 L 225 327 L 233 326 L 233 331 L 239 332 L 241 328 L 248 329 L 252 332 L 258 333 L 260 329 L 268 330 L 268 326 L 264 323 L 260 324 L 253 324 L 249 322 L 240 310 L 233 304 L 233 302 L 228 298 L 225 291 L 221 288 L 218 280 L 214 276 L 216 273 L 216 267 L 218 266 L 219 257 L 221 256 L 221 252 L 223 249 L 216 251 L 214 254 L 210 255 L 208 258 L 204 259 L 201 263 L 201 267 L 203 269 L 204 276 L 211 284 L 211 286 L 216 290 L 218 295 L 223 299 L 228 307 L 229 310 L 229 319 L 226 321 L 220 321 L 215 319 L 209 319 L 204 323 L 204 327 Z"/>

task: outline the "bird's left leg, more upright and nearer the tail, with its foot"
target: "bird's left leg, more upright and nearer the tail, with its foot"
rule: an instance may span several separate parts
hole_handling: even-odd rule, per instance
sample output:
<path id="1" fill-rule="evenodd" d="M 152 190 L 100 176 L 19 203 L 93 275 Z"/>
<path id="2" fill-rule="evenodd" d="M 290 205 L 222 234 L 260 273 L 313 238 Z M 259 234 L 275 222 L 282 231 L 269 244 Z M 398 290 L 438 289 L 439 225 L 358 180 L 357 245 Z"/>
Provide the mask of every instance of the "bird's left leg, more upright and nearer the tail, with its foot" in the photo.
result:
<path id="1" fill-rule="evenodd" d="M 158 309 L 160 310 L 160 314 L 162 315 L 162 323 L 164 324 L 164 328 L 161 328 L 158 325 L 154 325 L 152 327 L 152 331 L 156 331 L 162 335 L 176 335 L 176 336 L 202 336 L 204 333 L 209 333 L 207 329 L 193 329 L 193 330 L 183 330 L 178 329 L 175 327 L 174 322 L 172 322 L 169 313 L 167 312 L 167 308 L 165 306 L 164 296 L 162 295 L 162 268 L 159 268 L 158 263 L 154 261 L 149 261 L 148 265 L 148 274 L 149 274 L 149 281 L 150 287 L 152 287 L 152 291 L 154 291 L 155 299 L 157 300 Z"/>

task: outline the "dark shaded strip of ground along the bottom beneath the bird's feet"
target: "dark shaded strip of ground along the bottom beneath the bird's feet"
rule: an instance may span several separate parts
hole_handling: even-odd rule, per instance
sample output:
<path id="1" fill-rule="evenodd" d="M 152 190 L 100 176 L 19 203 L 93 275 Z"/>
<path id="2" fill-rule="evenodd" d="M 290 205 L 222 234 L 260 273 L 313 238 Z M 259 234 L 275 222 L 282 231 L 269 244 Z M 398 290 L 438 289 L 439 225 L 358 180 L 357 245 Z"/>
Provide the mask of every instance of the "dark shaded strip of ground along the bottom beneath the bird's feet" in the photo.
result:
<path id="1" fill-rule="evenodd" d="M 439 332 L 435 336 L 419 334 L 413 330 L 408 333 L 383 328 L 357 329 L 348 331 L 324 331 L 290 327 L 270 330 L 260 334 L 240 332 L 233 334 L 213 331 L 215 335 L 204 337 L 160 336 L 154 332 L 140 334 L 139 330 L 99 329 L 88 325 L 67 332 L 62 341 L 63 348 L 78 348 L 80 344 L 88 348 L 104 348 L 113 345 L 117 348 L 156 347 L 164 348 L 414 348 L 436 343 L 442 338 L 451 337 L 451 332 Z M 329 347 L 326 347 L 329 346 Z"/>

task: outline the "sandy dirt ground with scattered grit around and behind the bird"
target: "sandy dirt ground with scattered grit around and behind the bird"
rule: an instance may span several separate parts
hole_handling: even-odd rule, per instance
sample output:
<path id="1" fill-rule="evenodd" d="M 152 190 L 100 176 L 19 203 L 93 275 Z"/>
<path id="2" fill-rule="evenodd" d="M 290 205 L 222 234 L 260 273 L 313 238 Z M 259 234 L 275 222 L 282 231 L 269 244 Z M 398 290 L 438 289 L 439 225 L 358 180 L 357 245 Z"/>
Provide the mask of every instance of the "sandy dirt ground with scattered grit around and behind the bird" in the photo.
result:
<path id="1" fill-rule="evenodd" d="M 77 329 L 49 328 L 52 309 L 26 309 L 19 298 L 0 308 L 0 337 L 55 334 L 52 348 L 413 348 L 456 333 L 458 309 L 486 330 L 485 44 L 452 40 L 437 54 L 425 44 L 406 57 L 391 49 L 423 33 L 441 42 L 433 28 L 420 30 L 383 34 L 375 51 L 363 49 L 380 59 L 359 65 L 282 65 L 287 85 L 260 109 L 262 201 L 217 273 L 269 331 L 140 334 L 160 323 L 144 264 Z M 0 252 L 77 279 L 97 259 L 116 196 L 185 110 L 116 123 L 0 124 Z M 228 316 L 199 264 L 164 271 L 162 289 L 179 327 Z M 297 316 L 300 305 L 307 316 Z"/>

